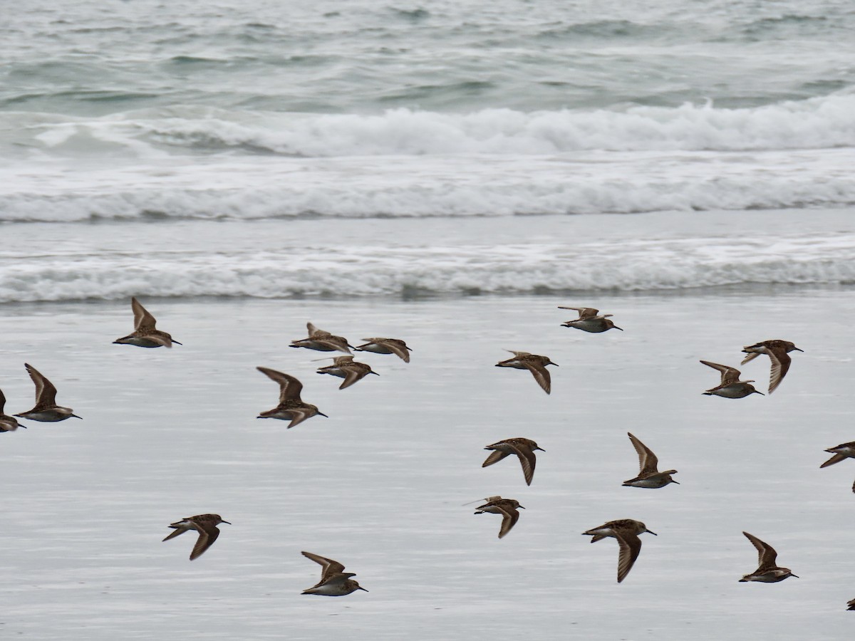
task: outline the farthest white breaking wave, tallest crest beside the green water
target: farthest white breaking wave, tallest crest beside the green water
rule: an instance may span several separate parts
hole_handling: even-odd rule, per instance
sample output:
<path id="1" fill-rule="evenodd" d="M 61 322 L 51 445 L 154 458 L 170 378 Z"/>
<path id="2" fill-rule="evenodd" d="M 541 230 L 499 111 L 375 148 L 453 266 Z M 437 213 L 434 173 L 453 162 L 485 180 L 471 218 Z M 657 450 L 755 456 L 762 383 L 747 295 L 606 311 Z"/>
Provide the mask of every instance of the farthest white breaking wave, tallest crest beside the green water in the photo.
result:
<path id="1" fill-rule="evenodd" d="M 15 121 L 20 114 L 3 115 Z M 26 119 L 25 119 L 26 120 Z M 31 116 L 32 144 L 91 138 L 179 152 L 235 150 L 288 156 L 540 155 L 581 150 L 783 150 L 855 145 L 855 95 L 839 93 L 745 109 L 676 108 L 466 114 L 391 109 L 378 115 L 145 109 L 103 118 Z M 20 142 L 20 141 L 19 141 Z"/>

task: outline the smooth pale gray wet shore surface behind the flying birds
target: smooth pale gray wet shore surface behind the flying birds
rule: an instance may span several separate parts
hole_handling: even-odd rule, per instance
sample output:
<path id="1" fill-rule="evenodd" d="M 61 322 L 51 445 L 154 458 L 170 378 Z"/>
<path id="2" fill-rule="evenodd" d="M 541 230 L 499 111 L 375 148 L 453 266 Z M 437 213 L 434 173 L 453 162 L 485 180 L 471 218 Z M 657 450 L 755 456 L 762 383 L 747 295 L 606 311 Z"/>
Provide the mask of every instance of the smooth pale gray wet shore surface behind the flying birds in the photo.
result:
<path id="1" fill-rule="evenodd" d="M 392 300 L 150 299 L 174 350 L 110 344 L 129 305 L 15 303 L 0 317 L 9 413 L 29 409 L 30 362 L 84 420 L 0 435 L 3 632 L 28 638 L 846 638 L 855 597 L 855 465 L 819 469 L 855 438 L 850 287 L 741 287 L 675 295 Z M 596 304 L 626 332 L 559 324 L 558 304 Z M 305 321 L 351 339 L 399 336 L 407 365 L 338 391 L 321 352 L 291 350 Z M 805 350 L 771 397 L 704 397 L 740 347 L 787 338 Z M 493 368 L 503 348 L 551 356 L 552 394 Z M 257 420 L 276 385 L 304 381 L 330 418 L 286 430 Z M 768 359 L 744 373 L 766 389 Z M 681 485 L 624 488 L 626 432 Z M 516 461 L 481 448 L 534 438 L 530 487 Z M 497 515 L 463 503 L 501 494 L 527 509 L 498 540 Z M 204 512 L 233 525 L 189 562 Z M 617 546 L 580 533 L 634 518 L 658 537 L 616 583 Z M 800 579 L 740 584 L 779 552 Z M 370 592 L 301 596 L 331 556 Z M 331 618 L 334 617 L 334 618 Z"/>

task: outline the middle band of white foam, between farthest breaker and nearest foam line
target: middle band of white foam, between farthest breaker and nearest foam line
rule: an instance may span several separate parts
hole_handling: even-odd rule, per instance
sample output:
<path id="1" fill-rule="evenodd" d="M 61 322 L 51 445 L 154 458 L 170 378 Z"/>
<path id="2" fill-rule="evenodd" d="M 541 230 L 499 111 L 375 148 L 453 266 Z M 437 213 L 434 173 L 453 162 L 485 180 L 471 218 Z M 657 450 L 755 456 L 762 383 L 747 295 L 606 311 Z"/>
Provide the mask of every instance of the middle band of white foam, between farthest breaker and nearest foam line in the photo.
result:
<path id="1" fill-rule="evenodd" d="M 251 156 L 0 173 L 0 221 L 418 218 L 855 203 L 852 150 Z"/>

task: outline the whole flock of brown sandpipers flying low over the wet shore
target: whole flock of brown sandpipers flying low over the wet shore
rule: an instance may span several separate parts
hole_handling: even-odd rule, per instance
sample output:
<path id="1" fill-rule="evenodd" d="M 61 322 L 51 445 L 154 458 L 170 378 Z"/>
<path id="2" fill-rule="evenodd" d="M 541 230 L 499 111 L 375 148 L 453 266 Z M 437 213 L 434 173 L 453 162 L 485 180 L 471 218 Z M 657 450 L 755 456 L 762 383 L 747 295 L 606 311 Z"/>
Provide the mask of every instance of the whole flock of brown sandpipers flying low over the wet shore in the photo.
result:
<path id="1" fill-rule="evenodd" d="M 156 329 L 155 317 L 150 315 L 136 298 L 131 299 L 131 306 L 134 315 L 134 331 L 123 338 L 117 338 L 114 341 L 115 344 L 130 344 L 146 348 L 171 348 L 173 344 L 180 345 L 167 332 Z M 563 323 L 563 326 L 592 333 L 607 332 L 610 329 L 622 331 L 621 327 L 616 326 L 610 320 L 610 314 L 600 315 L 598 309 L 577 307 L 559 307 L 559 309 L 574 309 L 579 313 L 578 318 L 566 321 Z M 318 351 L 342 351 L 349 355 L 333 357 L 333 365 L 317 370 L 318 373 L 331 374 L 343 379 L 339 390 L 354 385 L 368 374 L 375 373 L 368 364 L 354 361 L 353 356 L 350 356 L 351 350 L 368 351 L 376 354 L 394 354 L 404 360 L 404 362 L 410 362 L 411 350 L 403 340 L 398 338 L 365 338 L 363 339 L 366 341 L 364 344 L 354 346 L 349 344 L 345 338 L 319 330 L 311 323 L 308 323 L 307 327 L 309 336 L 293 341 L 290 345 L 291 347 L 302 347 Z M 793 343 L 786 340 L 773 339 L 761 341 L 756 344 L 746 345 L 743 348 L 742 351 L 747 356 L 743 358 L 740 364 L 744 365 L 746 362 L 750 362 L 762 354 L 769 356 L 771 371 L 768 393 L 771 394 L 781 385 L 781 380 L 786 376 L 791 363 L 789 352 L 793 350 L 802 351 Z M 530 354 L 524 351 L 511 351 L 511 353 L 514 355 L 512 358 L 496 363 L 496 367 L 528 369 L 538 385 L 549 394 L 551 391 L 551 377 L 546 366 L 557 365 L 557 363 L 551 362 L 548 356 Z M 740 371 L 738 369 L 715 362 L 700 362 L 721 373 L 720 384 L 703 392 L 705 395 L 725 398 L 744 398 L 751 394 L 763 395 L 762 392 L 756 390 L 752 385 L 755 382 L 754 380 L 740 380 Z M 26 427 L 18 423 L 15 417 L 46 422 L 56 422 L 73 417 L 80 418 L 80 416 L 74 414 L 71 408 L 56 404 L 56 387 L 50 383 L 50 380 L 46 379 L 32 365 L 25 363 L 25 367 L 36 386 L 36 404 L 27 412 L 21 412 L 14 416 L 5 415 L 3 414 L 3 409 L 6 398 L 3 396 L 3 391 L 0 391 L 0 432 L 13 432 L 18 427 Z M 315 415 L 326 416 L 315 405 L 304 403 L 300 397 L 303 384 L 298 379 L 290 374 L 270 368 L 259 367 L 257 369 L 270 379 L 273 379 L 280 386 L 279 404 L 274 409 L 262 412 L 258 415 L 258 418 L 288 420 L 290 421 L 288 427 L 291 428 Z M 639 456 L 640 470 L 634 479 L 624 481 L 624 486 L 657 489 L 665 485 L 677 483 L 671 476 L 677 473 L 676 470 L 669 469 L 660 472 L 658 470 L 657 456 L 652 450 L 633 434 L 628 433 L 628 437 Z M 486 457 L 486 461 L 482 465 L 484 468 L 503 460 L 507 456 L 516 455 L 522 466 L 522 475 L 527 485 L 531 485 L 534 478 L 534 468 L 536 465 L 534 452 L 537 450 L 544 451 L 533 440 L 522 437 L 505 438 L 497 443 L 486 445 L 485 450 L 491 450 L 491 453 Z M 855 458 L 855 442 L 840 444 L 826 451 L 830 452 L 833 456 L 824 462 L 820 466 L 821 468 L 834 465 L 834 463 L 843 461 L 846 458 Z M 852 485 L 852 491 L 855 492 L 855 484 Z M 518 510 L 524 508 L 516 499 L 512 498 L 497 496 L 487 497 L 485 500 L 486 503 L 475 509 L 475 514 L 489 513 L 501 515 L 502 524 L 499 528 L 498 538 L 503 538 L 516 525 L 517 520 L 519 520 L 520 513 Z M 190 516 L 170 524 L 169 527 L 173 528 L 174 532 L 170 532 L 163 540 L 168 541 L 170 538 L 175 538 L 189 530 L 196 531 L 198 538 L 190 554 L 192 561 L 198 558 L 198 556 L 202 556 L 205 550 L 208 550 L 214 544 L 220 535 L 220 530 L 217 526 L 221 523 L 228 523 L 228 521 L 223 520 L 220 515 L 206 514 Z M 583 534 L 592 537 L 591 543 L 596 543 L 602 538 L 611 537 L 616 539 L 619 548 L 617 582 L 620 583 L 627 577 L 635 560 L 639 556 L 641 550 L 639 535 L 644 532 L 656 534 L 647 529 L 647 526 L 638 520 L 621 519 L 609 521 L 602 526 L 587 530 Z M 797 576 L 789 568 L 779 567 L 776 564 L 777 553 L 769 544 L 764 543 L 764 541 L 761 541 L 748 532 L 743 532 L 743 534 L 758 550 L 758 568 L 754 572 L 743 576 L 740 582 L 760 581 L 763 583 L 775 583 L 791 576 Z M 357 581 L 351 579 L 351 577 L 355 576 L 354 573 L 345 573 L 345 566 L 341 563 L 324 556 L 312 554 L 311 552 L 303 552 L 303 555 L 311 561 L 320 564 L 322 567 L 321 580 L 316 585 L 306 589 L 303 592 L 304 594 L 340 597 L 357 590 L 367 591 Z M 847 605 L 848 609 L 855 610 L 855 599 L 852 599 Z"/>

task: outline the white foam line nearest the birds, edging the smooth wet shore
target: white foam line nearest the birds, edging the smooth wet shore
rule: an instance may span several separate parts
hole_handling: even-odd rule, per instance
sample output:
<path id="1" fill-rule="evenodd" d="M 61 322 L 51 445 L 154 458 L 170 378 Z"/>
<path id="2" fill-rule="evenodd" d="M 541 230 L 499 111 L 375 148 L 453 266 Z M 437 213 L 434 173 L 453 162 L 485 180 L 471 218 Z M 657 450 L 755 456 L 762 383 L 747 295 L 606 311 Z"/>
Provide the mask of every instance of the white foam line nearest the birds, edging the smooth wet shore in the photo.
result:
<path id="1" fill-rule="evenodd" d="M 270 243 L 268 243 L 270 244 Z M 272 243 L 274 244 L 274 243 Z M 676 290 L 855 282 L 848 234 L 564 244 L 351 244 L 19 256 L 0 301 Z"/>

